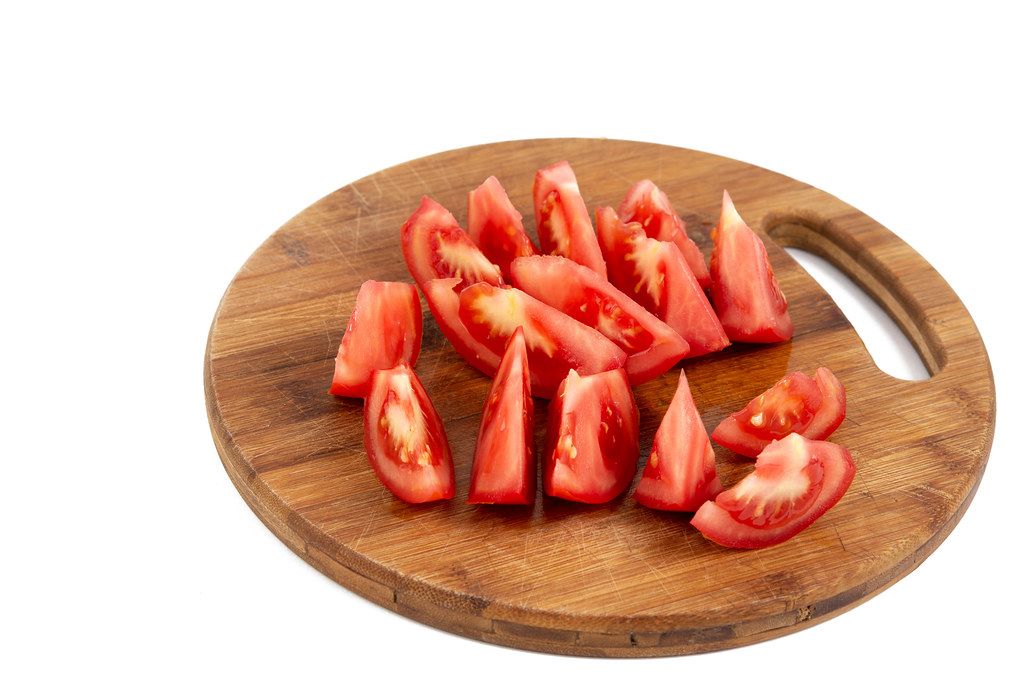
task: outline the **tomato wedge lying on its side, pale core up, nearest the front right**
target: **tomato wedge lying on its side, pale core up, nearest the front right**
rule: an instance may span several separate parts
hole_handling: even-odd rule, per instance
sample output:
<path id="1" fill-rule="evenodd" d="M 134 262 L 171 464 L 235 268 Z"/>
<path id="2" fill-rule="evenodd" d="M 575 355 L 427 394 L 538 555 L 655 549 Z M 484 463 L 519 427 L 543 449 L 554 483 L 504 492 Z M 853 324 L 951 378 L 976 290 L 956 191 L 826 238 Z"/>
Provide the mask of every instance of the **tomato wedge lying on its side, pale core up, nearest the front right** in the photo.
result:
<path id="1" fill-rule="evenodd" d="M 836 505 L 856 470 L 843 446 L 790 434 L 769 444 L 739 483 L 701 505 L 691 523 L 728 548 L 774 546 Z"/>

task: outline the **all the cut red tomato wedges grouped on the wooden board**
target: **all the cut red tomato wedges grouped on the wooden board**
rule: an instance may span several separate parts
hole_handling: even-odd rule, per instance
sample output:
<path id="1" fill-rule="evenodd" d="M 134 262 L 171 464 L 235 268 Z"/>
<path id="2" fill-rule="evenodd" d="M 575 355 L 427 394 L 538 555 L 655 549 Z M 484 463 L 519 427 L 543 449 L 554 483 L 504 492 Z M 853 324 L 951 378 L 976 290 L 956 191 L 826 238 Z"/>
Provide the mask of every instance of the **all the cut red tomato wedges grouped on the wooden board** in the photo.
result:
<path id="1" fill-rule="evenodd" d="M 710 267 L 650 180 L 631 186 L 617 213 L 599 208 L 596 231 L 567 162 L 537 172 L 532 200 L 540 249 L 490 176 L 469 191 L 468 231 L 424 197 L 401 226 L 402 255 L 453 348 L 494 378 L 468 502 L 532 504 L 536 395 L 551 399 L 541 464 L 545 494 L 607 503 L 637 473 L 632 386 L 732 342 L 787 341 L 793 322 L 764 243 L 728 193 L 712 231 Z M 407 503 L 452 499 L 456 488 L 443 420 L 413 370 L 421 337 L 414 286 L 364 283 L 330 388 L 365 399 L 367 457 L 378 479 Z M 813 378 L 786 375 L 709 438 L 680 370 L 634 498 L 649 508 L 694 512 L 693 526 L 722 546 L 781 543 L 849 487 L 856 469 L 850 453 L 823 440 L 845 416 L 845 388 L 818 368 Z M 711 439 L 757 459 L 730 488 L 719 479 Z"/>

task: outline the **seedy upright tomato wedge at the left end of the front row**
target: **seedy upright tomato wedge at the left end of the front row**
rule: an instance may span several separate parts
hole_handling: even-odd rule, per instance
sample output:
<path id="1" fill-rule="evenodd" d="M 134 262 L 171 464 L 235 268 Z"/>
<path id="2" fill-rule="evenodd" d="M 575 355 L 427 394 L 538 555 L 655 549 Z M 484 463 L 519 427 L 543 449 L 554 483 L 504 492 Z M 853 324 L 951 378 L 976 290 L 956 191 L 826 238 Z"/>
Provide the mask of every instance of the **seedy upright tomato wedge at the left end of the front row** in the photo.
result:
<path id="1" fill-rule="evenodd" d="M 409 366 L 374 373 L 362 439 L 377 478 L 401 500 L 426 503 L 455 496 L 444 426 Z"/>

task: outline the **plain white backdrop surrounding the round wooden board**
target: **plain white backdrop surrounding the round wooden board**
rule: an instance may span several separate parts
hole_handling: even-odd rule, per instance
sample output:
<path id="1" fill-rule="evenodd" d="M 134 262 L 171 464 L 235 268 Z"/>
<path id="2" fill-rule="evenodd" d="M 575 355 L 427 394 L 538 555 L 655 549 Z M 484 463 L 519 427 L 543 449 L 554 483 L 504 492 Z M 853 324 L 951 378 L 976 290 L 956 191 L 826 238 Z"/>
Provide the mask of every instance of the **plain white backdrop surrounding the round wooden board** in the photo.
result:
<path id="1" fill-rule="evenodd" d="M 0 9 L 0 678 L 1019 671 L 1020 17 L 979 3 L 360 4 Z M 208 326 L 246 257 L 381 168 L 550 136 L 694 147 L 810 182 L 961 294 L 1000 422 L 974 504 L 920 568 L 768 643 L 580 659 L 380 609 L 249 511 L 202 385 Z"/>

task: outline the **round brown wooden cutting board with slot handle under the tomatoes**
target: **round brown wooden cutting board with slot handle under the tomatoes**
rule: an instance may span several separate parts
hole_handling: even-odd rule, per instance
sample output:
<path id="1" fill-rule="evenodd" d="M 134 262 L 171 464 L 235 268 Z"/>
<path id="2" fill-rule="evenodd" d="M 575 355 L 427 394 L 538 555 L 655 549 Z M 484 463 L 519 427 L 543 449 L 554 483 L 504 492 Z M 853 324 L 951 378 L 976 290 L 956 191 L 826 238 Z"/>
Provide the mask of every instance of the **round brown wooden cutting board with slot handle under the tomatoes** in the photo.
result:
<path id="1" fill-rule="evenodd" d="M 850 449 L 857 476 L 834 509 L 792 541 L 758 551 L 720 548 L 690 526 L 689 515 L 638 506 L 632 488 L 598 506 L 543 496 L 525 509 L 467 505 L 489 379 L 456 354 L 425 305 L 416 370 L 444 419 L 456 499 L 407 505 L 375 478 L 362 447 L 361 401 L 327 393 L 359 285 L 412 282 L 398 232 L 420 197 L 435 198 L 465 224 L 466 194 L 490 174 L 536 237 L 534 172 L 561 159 L 575 169 L 591 211 L 617 206 L 636 180 L 654 180 L 706 256 L 723 188 L 767 238 L 796 325 L 793 341 L 737 344 L 684 367 L 709 430 L 791 371 L 824 365 L 845 383 L 847 419 L 833 440 Z M 879 371 L 843 313 L 783 246 L 824 256 L 869 292 L 916 346 L 931 379 L 901 381 Z M 641 468 L 677 375 L 636 390 Z M 381 171 L 312 205 L 272 234 L 227 288 L 210 330 L 206 395 L 231 481 L 259 518 L 324 573 L 454 633 L 600 656 L 753 643 L 829 618 L 890 586 L 964 514 L 995 418 L 988 356 L 971 316 L 942 278 L 885 227 L 765 169 L 604 139 L 447 152 Z M 538 447 L 546 408 L 537 401 Z M 716 454 L 726 486 L 751 470 L 745 458 L 719 447 Z"/>

